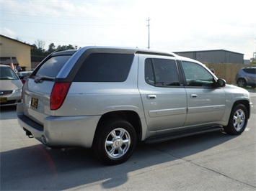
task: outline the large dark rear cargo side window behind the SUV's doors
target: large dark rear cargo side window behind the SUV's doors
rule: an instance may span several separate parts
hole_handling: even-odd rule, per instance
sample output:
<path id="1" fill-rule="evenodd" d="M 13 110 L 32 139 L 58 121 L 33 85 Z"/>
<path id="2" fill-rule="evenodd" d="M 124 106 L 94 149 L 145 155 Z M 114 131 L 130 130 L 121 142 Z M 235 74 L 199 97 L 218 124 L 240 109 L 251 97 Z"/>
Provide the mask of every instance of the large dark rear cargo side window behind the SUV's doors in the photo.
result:
<path id="1" fill-rule="evenodd" d="M 94 53 L 81 65 L 76 82 L 123 82 L 134 55 Z"/>

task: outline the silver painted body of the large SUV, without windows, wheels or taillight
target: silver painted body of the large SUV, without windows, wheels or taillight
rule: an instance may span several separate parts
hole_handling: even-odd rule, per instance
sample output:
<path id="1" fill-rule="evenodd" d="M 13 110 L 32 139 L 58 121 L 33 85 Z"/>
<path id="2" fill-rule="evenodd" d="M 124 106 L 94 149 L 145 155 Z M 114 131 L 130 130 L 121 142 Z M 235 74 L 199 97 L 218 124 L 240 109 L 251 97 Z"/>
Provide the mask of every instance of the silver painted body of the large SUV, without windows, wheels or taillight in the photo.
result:
<path id="1" fill-rule="evenodd" d="M 67 78 L 84 52 L 93 52 L 97 49 L 99 47 L 84 47 L 77 50 L 62 67 L 57 78 Z M 109 49 L 100 47 L 100 50 Z M 138 139 L 144 141 L 152 136 L 189 129 L 226 126 L 231 108 L 236 101 L 245 101 L 249 106 L 248 91 L 233 85 L 226 85 L 224 88 L 187 88 L 182 85 L 161 88 L 149 85 L 144 76 L 147 58 L 175 60 L 177 63 L 193 62 L 205 68 L 212 78 L 217 78 L 211 70 L 195 60 L 175 54 L 172 57 L 164 55 L 169 55 L 169 52 L 151 55 L 135 51 L 137 53 L 134 55 L 128 78 L 124 82 L 72 82 L 69 93 L 58 110 L 50 110 L 50 94 L 55 82 L 43 80 L 35 83 L 35 78 L 28 78 L 23 88 L 23 103 L 17 107 L 19 125 L 48 146 L 89 148 L 94 141 L 100 118 L 106 113 L 136 113 L 141 125 Z M 33 100 L 37 101 L 36 107 L 32 106 Z"/>

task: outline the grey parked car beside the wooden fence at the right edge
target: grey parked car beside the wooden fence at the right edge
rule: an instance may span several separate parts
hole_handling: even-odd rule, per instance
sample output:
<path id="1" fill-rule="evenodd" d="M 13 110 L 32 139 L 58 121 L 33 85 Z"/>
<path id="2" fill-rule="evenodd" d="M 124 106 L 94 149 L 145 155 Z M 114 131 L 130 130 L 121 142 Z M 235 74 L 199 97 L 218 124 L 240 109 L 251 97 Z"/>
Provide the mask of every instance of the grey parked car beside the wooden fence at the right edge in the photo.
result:
<path id="1" fill-rule="evenodd" d="M 256 86 L 256 67 L 243 67 L 236 75 L 235 78 L 239 87 L 250 85 Z"/>

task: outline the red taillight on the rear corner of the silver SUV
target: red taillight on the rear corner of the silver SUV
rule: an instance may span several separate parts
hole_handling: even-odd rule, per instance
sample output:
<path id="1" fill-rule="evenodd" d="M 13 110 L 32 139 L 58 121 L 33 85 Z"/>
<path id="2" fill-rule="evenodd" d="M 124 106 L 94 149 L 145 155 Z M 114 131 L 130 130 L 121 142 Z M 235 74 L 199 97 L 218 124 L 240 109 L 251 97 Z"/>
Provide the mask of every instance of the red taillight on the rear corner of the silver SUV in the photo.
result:
<path id="1" fill-rule="evenodd" d="M 69 91 L 71 83 L 55 83 L 50 93 L 50 110 L 56 110 L 61 107 Z"/>

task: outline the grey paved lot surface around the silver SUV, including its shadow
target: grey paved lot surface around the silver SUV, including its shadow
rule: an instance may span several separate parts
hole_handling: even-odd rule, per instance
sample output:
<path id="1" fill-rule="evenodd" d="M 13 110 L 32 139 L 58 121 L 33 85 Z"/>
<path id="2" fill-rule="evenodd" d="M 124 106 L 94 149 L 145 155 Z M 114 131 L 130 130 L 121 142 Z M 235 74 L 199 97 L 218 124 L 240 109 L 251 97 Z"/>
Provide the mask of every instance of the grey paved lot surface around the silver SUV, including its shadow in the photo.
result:
<path id="1" fill-rule="evenodd" d="M 221 131 L 140 143 L 117 166 L 90 149 L 47 150 L 17 124 L 16 107 L 1 108 L 0 190 L 256 190 L 256 93 L 246 131 Z"/>

